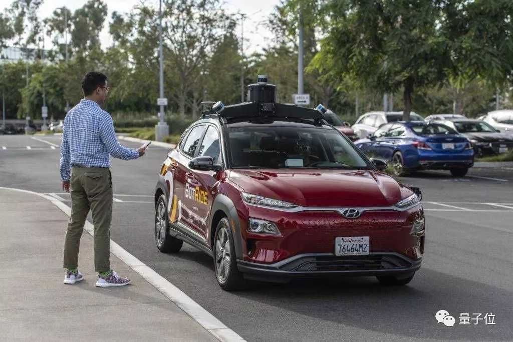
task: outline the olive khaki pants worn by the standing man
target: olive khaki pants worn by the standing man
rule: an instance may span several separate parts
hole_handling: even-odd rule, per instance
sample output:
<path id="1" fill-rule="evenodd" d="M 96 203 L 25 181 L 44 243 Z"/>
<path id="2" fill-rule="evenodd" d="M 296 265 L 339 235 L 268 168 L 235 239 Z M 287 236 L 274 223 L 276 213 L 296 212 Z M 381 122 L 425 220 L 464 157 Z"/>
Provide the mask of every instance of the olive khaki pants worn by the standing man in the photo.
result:
<path id="1" fill-rule="evenodd" d="M 64 242 L 64 268 L 78 266 L 80 237 L 89 210 L 94 226 L 94 270 L 110 271 L 112 176 L 108 168 L 73 166 L 70 179 L 71 216 Z"/>

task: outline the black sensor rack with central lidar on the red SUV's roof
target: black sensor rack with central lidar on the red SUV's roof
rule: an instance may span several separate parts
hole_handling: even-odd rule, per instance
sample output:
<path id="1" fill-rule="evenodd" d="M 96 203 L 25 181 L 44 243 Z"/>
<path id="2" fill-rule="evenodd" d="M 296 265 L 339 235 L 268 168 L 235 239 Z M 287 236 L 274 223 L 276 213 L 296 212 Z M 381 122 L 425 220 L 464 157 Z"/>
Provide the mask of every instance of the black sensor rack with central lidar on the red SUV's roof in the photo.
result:
<path id="1" fill-rule="evenodd" d="M 212 109 L 204 111 L 203 117 L 217 115 L 221 118 L 235 117 L 280 117 L 313 119 L 315 123 L 321 123 L 327 109 L 323 105 L 315 109 L 304 108 L 292 104 L 276 102 L 276 86 L 268 84 L 266 75 L 258 75 L 257 83 L 248 85 L 248 102 L 224 106 L 221 101 L 215 103 Z"/>

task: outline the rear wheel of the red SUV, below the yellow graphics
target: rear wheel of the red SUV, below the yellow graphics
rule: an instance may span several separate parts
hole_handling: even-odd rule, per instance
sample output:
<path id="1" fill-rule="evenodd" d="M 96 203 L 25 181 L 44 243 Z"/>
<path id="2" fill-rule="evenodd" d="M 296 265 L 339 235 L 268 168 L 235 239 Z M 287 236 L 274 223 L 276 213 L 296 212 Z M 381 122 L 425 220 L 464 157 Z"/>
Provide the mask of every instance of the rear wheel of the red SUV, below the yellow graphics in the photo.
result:
<path id="1" fill-rule="evenodd" d="M 166 197 L 161 195 L 155 206 L 155 244 L 162 253 L 177 253 L 182 248 L 183 241 L 169 235 L 169 214 Z"/>

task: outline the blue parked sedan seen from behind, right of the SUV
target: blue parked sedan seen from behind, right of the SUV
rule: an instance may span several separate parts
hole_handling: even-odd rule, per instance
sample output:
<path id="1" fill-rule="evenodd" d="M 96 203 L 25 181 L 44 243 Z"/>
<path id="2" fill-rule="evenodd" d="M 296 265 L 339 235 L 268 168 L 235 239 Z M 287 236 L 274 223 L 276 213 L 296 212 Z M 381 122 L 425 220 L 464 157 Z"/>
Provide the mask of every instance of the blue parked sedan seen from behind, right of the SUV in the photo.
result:
<path id="1" fill-rule="evenodd" d="M 389 123 L 354 144 L 367 156 L 391 163 L 397 175 L 431 169 L 450 170 L 453 176 L 463 177 L 474 164 L 468 139 L 440 123 Z"/>

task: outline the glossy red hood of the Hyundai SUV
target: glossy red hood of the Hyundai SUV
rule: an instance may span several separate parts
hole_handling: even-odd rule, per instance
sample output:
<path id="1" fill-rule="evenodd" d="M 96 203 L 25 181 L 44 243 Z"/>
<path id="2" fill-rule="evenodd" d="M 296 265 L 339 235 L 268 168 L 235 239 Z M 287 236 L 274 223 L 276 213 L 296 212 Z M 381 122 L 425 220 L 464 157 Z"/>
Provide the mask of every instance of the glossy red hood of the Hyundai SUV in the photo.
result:
<path id="1" fill-rule="evenodd" d="M 305 207 L 387 207 L 413 192 L 373 170 L 232 170 L 244 192 Z"/>

